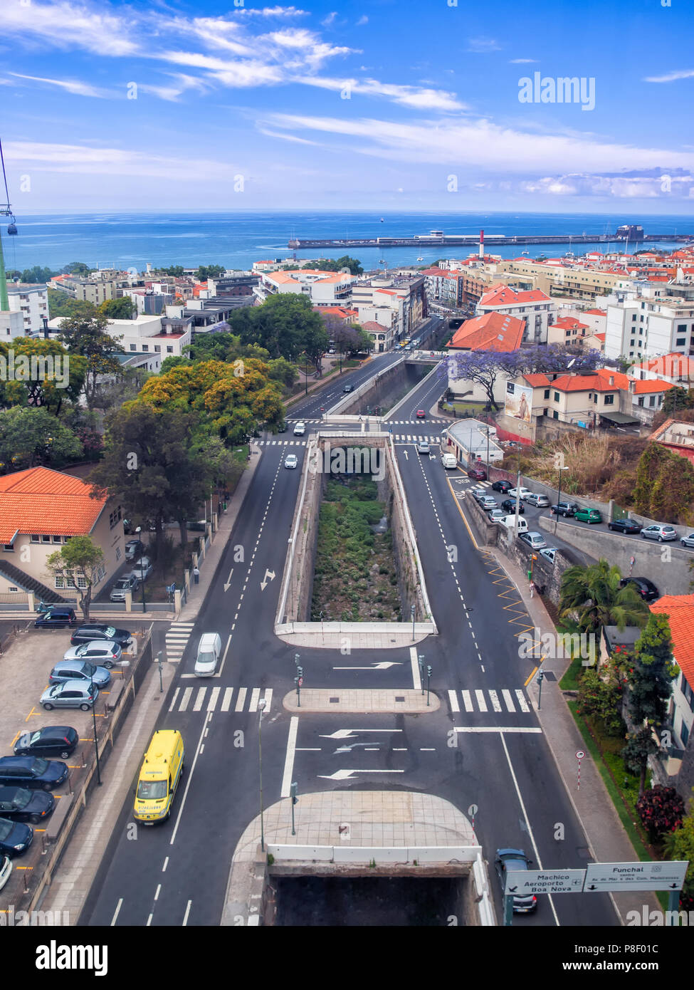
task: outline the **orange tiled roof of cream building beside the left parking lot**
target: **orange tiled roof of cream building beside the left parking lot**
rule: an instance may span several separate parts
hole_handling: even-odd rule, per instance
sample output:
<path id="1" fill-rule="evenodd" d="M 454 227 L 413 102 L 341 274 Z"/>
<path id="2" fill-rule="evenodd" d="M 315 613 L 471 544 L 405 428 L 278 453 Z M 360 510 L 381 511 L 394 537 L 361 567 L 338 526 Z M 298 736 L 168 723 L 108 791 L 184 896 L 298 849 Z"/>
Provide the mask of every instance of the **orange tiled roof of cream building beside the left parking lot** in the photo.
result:
<path id="1" fill-rule="evenodd" d="M 90 533 L 106 498 L 89 497 L 91 486 L 81 478 L 48 467 L 0 477 L 0 544 L 17 534 L 78 537 Z"/>

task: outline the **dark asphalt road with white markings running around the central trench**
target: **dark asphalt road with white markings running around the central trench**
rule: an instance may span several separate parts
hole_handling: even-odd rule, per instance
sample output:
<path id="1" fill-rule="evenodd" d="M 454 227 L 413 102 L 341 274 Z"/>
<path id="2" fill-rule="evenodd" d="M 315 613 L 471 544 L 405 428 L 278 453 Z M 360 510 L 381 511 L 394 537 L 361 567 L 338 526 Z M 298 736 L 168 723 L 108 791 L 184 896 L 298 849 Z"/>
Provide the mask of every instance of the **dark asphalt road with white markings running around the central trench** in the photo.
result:
<path id="1" fill-rule="evenodd" d="M 349 374 L 366 377 L 377 361 L 393 359 L 376 357 Z M 313 418 L 309 406 L 323 401 L 309 398 L 293 415 Z M 419 401 L 415 396 L 413 402 Z M 415 421 L 411 435 L 416 428 L 429 435 L 431 426 Z M 129 797 L 82 924 L 219 924 L 234 848 L 258 814 L 260 697 L 269 708 L 262 724 L 265 807 L 286 797 L 286 762 L 289 779 L 298 782 L 298 821 L 302 793 L 354 787 L 426 791 L 464 812 L 476 806 L 474 827 L 490 861 L 498 846 L 518 845 L 545 868 L 586 862 L 585 837 L 524 688 L 531 661 L 519 656 L 516 637 L 532 623 L 511 585 L 498 583 L 492 558 L 470 543 L 439 459 L 415 456 L 411 443 L 396 441 L 396 455 L 441 631 L 419 646 L 433 667 L 431 687 L 441 708 L 419 717 L 301 714 L 292 746 L 292 716 L 281 699 L 293 689 L 294 649 L 274 637 L 272 624 L 301 479 L 300 471 L 283 468 L 283 455 L 291 444 L 301 466 L 305 442 L 263 446 L 244 510 L 156 726 L 179 729 L 186 744 L 186 775 L 173 814 L 161 826 L 138 828 L 134 840 L 127 828 Z M 214 678 L 199 681 L 192 676 L 194 645 L 208 631 L 220 633 L 224 659 Z M 354 650 L 347 657 L 326 649 L 299 652 L 306 687 L 417 686 L 417 658 L 413 662 L 407 647 L 387 655 Z M 384 659 L 393 665 L 374 666 Z M 335 739 L 341 730 L 349 731 L 346 740 Z M 501 917 L 494 877 L 492 889 Z M 536 916 L 515 923 L 616 924 L 607 896 L 541 901 Z"/>

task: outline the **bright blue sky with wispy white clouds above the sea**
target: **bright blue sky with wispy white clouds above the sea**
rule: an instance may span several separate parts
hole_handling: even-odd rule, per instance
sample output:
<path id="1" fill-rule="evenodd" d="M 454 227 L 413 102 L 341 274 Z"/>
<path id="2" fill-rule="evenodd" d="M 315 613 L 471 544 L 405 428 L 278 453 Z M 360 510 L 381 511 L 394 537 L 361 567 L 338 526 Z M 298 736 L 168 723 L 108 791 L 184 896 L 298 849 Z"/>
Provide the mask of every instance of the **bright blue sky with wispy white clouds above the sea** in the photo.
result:
<path id="1" fill-rule="evenodd" d="M 3 0 L 15 212 L 694 213 L 687 0 L 236 3 Z"/>

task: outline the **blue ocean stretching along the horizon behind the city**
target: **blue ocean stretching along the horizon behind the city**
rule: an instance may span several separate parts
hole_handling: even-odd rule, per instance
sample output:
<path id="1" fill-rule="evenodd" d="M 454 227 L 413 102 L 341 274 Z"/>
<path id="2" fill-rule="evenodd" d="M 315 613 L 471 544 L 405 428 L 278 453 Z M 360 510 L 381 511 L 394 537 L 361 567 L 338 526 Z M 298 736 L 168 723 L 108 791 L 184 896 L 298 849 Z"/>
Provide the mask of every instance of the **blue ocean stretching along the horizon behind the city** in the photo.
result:
<path id="1" fill-rule="evenodd" d="M 378 236 L 412 237 L 443 230 L 445 234 L 582 234 L 614 233 L 621 224 L 642 224 L 646 234 L 694 234 L 694 218 L 686 216 L 644 216 L 629 214 L 546 213 L 384 213 L 370 212 L 238 212 L 206 214 L 122 213 L 28 215 L 17 217 L 18 237 L 3 231 L 5 266 L 8 269 L 35 264 L 53 269 L 70 261 L 84 261 L 90 267 L 145 268 L 182 264 L 224 264 L 228 268 L 249 268 L 263 258 L 291 258 L 287 247 L 291 237 L 299 238 L 370 238 Z M 657 242 L 648 247 L 672 248 Z M 574 253 L 606 249 L 607 246 L 579 246 Z M 617 247 L 615 245 L 614 247 Z M 451 247 L 451 257 L 464 257 L 473 248 Z M 569 245 L 531 245 L 493 247 L 487 250 L 503 257 L 516 257 L 522 250 L 529 256 L 563 254 Z M 339 257 L 344 249 L 308 248 L 297 257 L 314 257 L 319 253 Z M 441 247 L 352 248 L 365 269 L 389 268 L 403 264 L 428 264 L 442 256 Z M 422 260 L 418 261 L 421 257 Z"/>

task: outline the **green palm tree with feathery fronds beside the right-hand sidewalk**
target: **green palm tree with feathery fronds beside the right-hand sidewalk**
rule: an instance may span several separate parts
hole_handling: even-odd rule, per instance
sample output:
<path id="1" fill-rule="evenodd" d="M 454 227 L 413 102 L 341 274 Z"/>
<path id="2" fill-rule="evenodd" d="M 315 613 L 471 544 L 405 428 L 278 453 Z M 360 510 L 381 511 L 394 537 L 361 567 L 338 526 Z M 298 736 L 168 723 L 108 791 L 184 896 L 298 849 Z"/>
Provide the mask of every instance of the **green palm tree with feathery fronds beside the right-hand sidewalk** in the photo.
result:
<path id="1" fill-rule="evenodd" d="M 634 584 L 620 588 L 622 573 L 604 558 L 587 567 L 568 567 L 561 575 L 559 617 L 574 619 L 581 632 L 601 626 L 645 626 L 649 610 Z"/>

